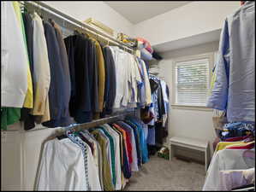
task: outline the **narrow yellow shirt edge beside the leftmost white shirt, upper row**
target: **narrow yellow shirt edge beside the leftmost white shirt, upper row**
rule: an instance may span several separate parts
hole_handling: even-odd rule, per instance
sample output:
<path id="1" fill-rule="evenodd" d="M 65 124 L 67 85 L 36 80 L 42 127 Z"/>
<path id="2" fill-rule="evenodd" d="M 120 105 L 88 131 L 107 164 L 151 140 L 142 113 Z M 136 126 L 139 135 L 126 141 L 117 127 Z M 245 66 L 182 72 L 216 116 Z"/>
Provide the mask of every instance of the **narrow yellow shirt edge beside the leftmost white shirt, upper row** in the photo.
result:
<path id="1" fill-rule="evenodd" d="M 23 19 L 21 17 L 21 8 L 18 2 L 13 2 L 14 9 L 15 9 L 15 14 L 17 16 L 17 20 L 20 23 L 20 27 L 23 33 L 23 38 L 24 38 L 24 44 L 26 47 L 26 52 L 27 52 L 27 41 L 26 41 L 26 35 L 25 35 L 25 30 L 24 30 L 24 25 L 23 25 Z M 31 73 L 30 73 L 30 68 L 29 68 L 29 61 L 28 61 L 28 55 L 27 55 L 27 95 L 25 97 L 25 101 L 23 104 L 24 108 L 33 108 L 33 85 L 32 85 L 32 78 L 31 78 Z"/>

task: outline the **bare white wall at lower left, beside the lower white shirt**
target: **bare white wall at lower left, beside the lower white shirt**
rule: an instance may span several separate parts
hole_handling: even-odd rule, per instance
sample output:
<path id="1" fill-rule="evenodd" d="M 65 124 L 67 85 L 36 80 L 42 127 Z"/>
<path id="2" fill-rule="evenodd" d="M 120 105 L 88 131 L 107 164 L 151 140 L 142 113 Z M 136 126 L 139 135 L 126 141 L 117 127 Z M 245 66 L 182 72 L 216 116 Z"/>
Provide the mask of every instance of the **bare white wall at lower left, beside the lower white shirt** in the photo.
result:
<path id="1" fill-rule="evenodd" d="M 62 128 L 24 131 L 21 122 L 8 128 L 1 131 L 1 190 L 34 190 L 43 143 Z"/>

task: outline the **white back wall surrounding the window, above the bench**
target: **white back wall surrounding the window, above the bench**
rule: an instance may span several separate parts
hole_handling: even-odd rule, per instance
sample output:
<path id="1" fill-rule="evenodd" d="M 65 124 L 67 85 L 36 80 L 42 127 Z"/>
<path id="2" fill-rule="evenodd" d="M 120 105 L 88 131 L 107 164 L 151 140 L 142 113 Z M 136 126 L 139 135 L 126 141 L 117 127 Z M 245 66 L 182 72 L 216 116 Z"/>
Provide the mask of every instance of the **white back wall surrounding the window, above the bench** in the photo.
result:
<path id="1" fill-rule="evenodd" d="M 188 55 L 199 55 L 209 52 L 216 52 L 218 42 L 201 44 L 185 49 L 176 49 L 170 52 L 163 53 L 164 60 L 159 61 L 159 76 L 164 77 L 164 80 L 170 88 L 170 98 L 172 96 L 172 62 L 177 57 Z M 169 121 L 169 137 L 191 137 L 195 139 L 208 140 L 210 143 L 215 139 L 215 131 L 212 125 L 212 110 L 194 110 L 174 108 L 170 109 Z M 169 143 L 169 139 L 167 140 Z M 212 148 L 211 148 L 212 153 Z"/>

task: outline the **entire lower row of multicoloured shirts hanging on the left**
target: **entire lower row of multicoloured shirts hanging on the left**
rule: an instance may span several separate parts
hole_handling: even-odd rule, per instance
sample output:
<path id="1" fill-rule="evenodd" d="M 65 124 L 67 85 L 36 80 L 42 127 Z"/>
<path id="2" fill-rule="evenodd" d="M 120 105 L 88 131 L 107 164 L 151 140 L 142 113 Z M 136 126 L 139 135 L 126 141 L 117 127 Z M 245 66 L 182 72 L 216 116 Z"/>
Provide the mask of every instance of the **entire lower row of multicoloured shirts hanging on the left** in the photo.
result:
<path id="1" fill-rule="evenodd" d="M 86 131 L 68 130 L 63 137 L 47 141 L 36 189 L 123 189 L 126 179 L 139 171 L 139 159 L 142 163 L 148 160 L 144 124 L 135 117 L 127 118 Z M 137 155 L 139 151 L 142 155 Z"/>

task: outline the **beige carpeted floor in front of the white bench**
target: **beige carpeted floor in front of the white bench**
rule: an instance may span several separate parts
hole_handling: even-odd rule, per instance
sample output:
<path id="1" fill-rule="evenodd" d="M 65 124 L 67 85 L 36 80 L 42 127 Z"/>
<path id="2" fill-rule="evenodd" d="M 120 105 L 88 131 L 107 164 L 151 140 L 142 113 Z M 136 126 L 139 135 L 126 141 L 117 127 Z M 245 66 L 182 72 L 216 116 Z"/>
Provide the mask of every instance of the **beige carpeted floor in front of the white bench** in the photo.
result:
<path id="1" fill-rule="evenodd" d="M 193 190 L 202 189 L 205 166 L 184 160 L 164 160 L 152 156 L 139 172 L 134 172 L 123 190 Z"/>

